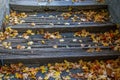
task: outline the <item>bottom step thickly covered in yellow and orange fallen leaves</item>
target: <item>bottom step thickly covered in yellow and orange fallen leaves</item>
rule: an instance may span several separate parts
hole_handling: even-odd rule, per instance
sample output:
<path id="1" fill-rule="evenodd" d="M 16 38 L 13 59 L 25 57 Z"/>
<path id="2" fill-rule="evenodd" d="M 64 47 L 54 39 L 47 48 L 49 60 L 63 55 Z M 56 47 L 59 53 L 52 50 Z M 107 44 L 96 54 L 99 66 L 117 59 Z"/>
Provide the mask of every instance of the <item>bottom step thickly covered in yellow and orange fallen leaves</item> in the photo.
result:
<path id="1" fill-rule="evenodd" d="M 97 58 L 97 57 L 96 57 Z M 47 60 L 47 59 L 45 59 Z M 107 60 L 48 59 L 53 62 L 28 60 L 32 64 L 5 63 L 1 66 L 0 77 L 3 80 L 119 80 L 120 58 Z M 60 60 L 60 61 L 59 61 Z M 9 60 L 8 60 L 9 61 Z M 16 60 L 14 60 L 16 61 Z M 14 62 L 13 61 L 13 62 Z M 26 61 L 26 60 L 24 60 Z M 73 62 L 74 61 L 74 62 Z M 6 62 L 6 61 L 5 61 Z M 113 74 L 114 73 L 114 74 Z"/>

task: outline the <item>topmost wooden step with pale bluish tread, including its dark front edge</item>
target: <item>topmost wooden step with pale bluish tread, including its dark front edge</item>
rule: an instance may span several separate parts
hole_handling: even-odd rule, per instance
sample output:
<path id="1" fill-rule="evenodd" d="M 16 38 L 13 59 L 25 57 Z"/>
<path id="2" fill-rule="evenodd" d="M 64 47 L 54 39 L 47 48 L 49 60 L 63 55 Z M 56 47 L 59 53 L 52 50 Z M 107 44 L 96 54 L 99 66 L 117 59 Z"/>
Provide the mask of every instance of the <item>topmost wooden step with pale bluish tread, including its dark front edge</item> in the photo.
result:
<path id="1" fill-rule="evenodd" d="M 104 0 L 10 0 L 10 7 L 18 11 L 68 11 L 107 8 L 107 5 Z"/>

